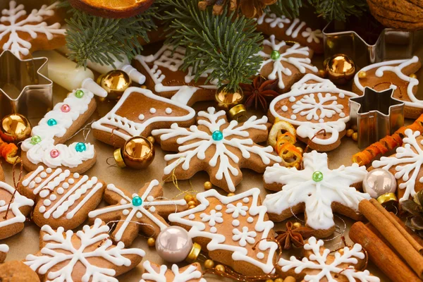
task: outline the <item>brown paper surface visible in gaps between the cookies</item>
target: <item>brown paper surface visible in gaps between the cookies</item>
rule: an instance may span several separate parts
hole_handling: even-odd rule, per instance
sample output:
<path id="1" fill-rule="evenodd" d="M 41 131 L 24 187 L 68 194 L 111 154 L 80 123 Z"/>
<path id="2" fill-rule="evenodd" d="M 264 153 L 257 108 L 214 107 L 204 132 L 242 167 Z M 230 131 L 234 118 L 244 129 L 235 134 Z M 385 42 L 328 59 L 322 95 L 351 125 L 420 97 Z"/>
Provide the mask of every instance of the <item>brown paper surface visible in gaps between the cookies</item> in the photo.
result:
<path id="1" fill-rule="evenodd" d="M 37 8 L 41 3 L 39 2 L 45 2 L 47 3 L 47 0 L 44 1 L 18 1 L 18 3 L 24 3 L 27 5 L 27 11 L 30 11 L 30 8 Z M 8 1 L 0 1 L 0 10 L 3 8 L 6 8 L 8 4 Z M 419 50 L 420 51 L 420 50 Z M 314 57 L 313 63 L 314 65 L 321 68 L 321 62 L 323 61 L 322 57 Z M 66 94 L 68 92 L 64 90 L 59 85 L 54 85 L 54 103 L 61 102 L 66 97 Z M 422 91 L 419 91 L 419 95 L 417 97 L 422 96 Z M 197 103 L 195 104 L 194 108 L 198 110 L 207 109 L 207 106 L 212 105 L 213 103 L 203 102 L 203 103 Z M 98 119 L 101 116 L 104 116 L 113 106 L 114 102 L 99 102 L 97 107 L 97 111 L 93 114 L 92 119 Z M 250 114 L 253 114 L 254 112 L 250 111 Z M 260 113 L 257 113 L 260 114 Z M 37 121 L 31 121 L 33 125 L 37 124 Z M 410 123 L 410 121 L 407 121 L 407 123 Z M 70 142 L 81 142 L 83 140 L 82 133 L 78 134 L 77 136 L 73 137 L 72 140 L 69 140 Z M 92 134 L 87 139 L 87 142 L 91 142 L 95 145 L 95 149 L 97 151 L 97 164 L 94 165 L 93 168 L 90 169 L 90 171 L 87 171 L 88 176 L 97 176 L 98 178 L 104 180 L 106 183 L 114 183 L 115 185 L 125 188 L 131 192 L 137 192 L 139 188 L 144 185 L 144 183 L 152 180 L 152 179 L 159 179 L 161 180 L 161 177 L 163 176 L 163 168 L 166 164 L 164 161 L 164 152 L 160 149 L 159 146 L 156 146 L 156 156 L 153 161 L 153 163 L 144 170 L 134 170 L 131 168 L 118 168 L 114 164 L 113 159 L 113 152 L 114 148 L 106 145 L 102 142 L 99 142 L 92 137 Z M 304 145 L 301 145 L 302 147 L 305 147 Z M 359 152 L 360 149 L 357 148 L 357 143 L 353 142 L 348 137 L 344 137 L 341 143 L 341 146 L 337 149 L 333 150 L 332 152 L 328 153 L 329 156 L 329 167 L 330 168 L 338 168 L 338 166 L 341 165 L 350 165 L 352 163 L 351 157 L 356 152 Z M 107 164 L 107 161 L 109 160 L 109 164 Z M 9 164 L 3 164 L 3 168 L 6 175 L 6 182 L 9 184 L 13 183 L 12 180 L 12 167 Z M 188 190 L 192 188 L 194 190 L 197 190 L 197 192 L 204 191 L 203 183 L 204 181 L 209 180 L 209 177 L 207 173 L 200 172 L 197 173 L 189 182 L 188 180 L 179 181 L 179 187 L 182 190 Z M 260 188 L 262 190 L 262 198 L 265 197 L 265 195 L 269 192 L 264 190 L 263 188 L 263 182 L 262 182 L 262 174 L 261 173 L 255 173 L 254 171 L 250 171 L 247 169 L 243 169 L 243 182 L 240 183 L 240 185 L 237 186 L 236 192 L 243 192 L 245 190 L 248 190 L 250 188 Z M 219 192 L 223 192 L 223 190 L 220 190 L 218 188 Z M 179 195 L 179 196 L 178 196 Z M 174 198 L 176 196 L 183 197 L 183 195 L 180 195 L 180 190 L 178 190 L 172 183 L 165 183 L 164 184 L 164 196 L 168 198 Z M 105 203 L 102 202 L 100 206 L 104 206 Z M 302 219 L 302 216 L 299 216 L 300 219 Z M 341 218 L 345 221 L 345 239 L 348 244 L 352 244 L 351 240 L 348 237 L 348 231 L 349 226 L 354 222 L 348 218 L 345 218 L 345 216 L 341 216 Z M 295 220 L 295 218 L 292 218 L 291 220 Z M 335 219 L 336 223 L 338 224 L 338 227 L 343 230 L 344 229 L 344 223 L 339 218 L 336 217 Z M 80 226 L 81 228 L 82 226 Z M 275 224 L 275 230 L 281 230 L 285 229 L 284 223 L 276 223 Z M 336 238 L 335 240 L 329 241 L 326 243 L 326 247 L 331 248 L 331 250 L 336 249 L 337 247 L 340 247 L 340 238 Z M 25 223 L 25 228 L 21 233 L 18 233 L 17 235 L 14 235 L 11 238 L 7 238 L 5 240 L 0 240 L 0 243 L 6 243 L 10 247 L 10 251 L 8 253 L 8 257 L 6 261 L 11 260 L 23 260 L 28 254 L 35 254 L 39 250 L 39 227 L 35 225 L 35 223 Z M 133 243 L 131 247 L 140 247 L 142 250 L 145 250 L 147 255 L 145 256 L 145 259 L 149 259 L 151 262 L 155 262 L 157 264 L 162 264 L 164 261 L 156 254 L 154 251 L 154 248 L 149 248 L 147 246 L 147 239 L 144 238 L 142 235 L 140 235 Z M 285 251 L 283 253 L 284 257 L 290 256 L 290 255 L 300 255 L 300 252 L 287 252 Z M 145 260 L 144 259 L 144 260 Z M 143 260 L 143 261 L 144 261 Z M 204 257 L 200 256 L 200 260 L 204 260 Z M 180 264 L 180 265 L 184 265 Z M 382 282 L 388 282 L 390 281 L 384 274 L 379 271 L 379 269 L 376 268 L 376 266 L 372 265 L 372 262 L 369 262 L 368 266 L 369 271 L 372 272 L 375 276 L 379 276 L 381 278 Z M 123 274 L 122 276 L 118 277 L 119 281 L 125 281 L 125 282 L 138 282 L 141 279 L 142 275 L 142 263 L 137 266 L 132 271 L 129 271 L 127 274 Z M 205 276 L 204 278 L 207 279 L 207 281 L 214 282 L 214 281 L 231 281 L 230 279 L 223 279 L 216 276 Z"/>

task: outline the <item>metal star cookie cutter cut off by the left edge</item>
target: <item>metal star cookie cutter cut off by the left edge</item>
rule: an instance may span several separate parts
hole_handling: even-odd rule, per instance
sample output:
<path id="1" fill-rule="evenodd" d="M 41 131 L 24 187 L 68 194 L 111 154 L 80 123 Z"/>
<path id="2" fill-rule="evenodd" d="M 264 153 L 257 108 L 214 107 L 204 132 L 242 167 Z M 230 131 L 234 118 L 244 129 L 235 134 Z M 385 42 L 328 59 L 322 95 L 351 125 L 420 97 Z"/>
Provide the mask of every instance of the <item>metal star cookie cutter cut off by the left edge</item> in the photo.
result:
<path id="1" fill-rule="evenodd" d="M 47 58 L 20 59 L 0 54 L 0 118 L 22 114 L 42 118 L 53 104 L 53 82 L 47 78 Z"/>

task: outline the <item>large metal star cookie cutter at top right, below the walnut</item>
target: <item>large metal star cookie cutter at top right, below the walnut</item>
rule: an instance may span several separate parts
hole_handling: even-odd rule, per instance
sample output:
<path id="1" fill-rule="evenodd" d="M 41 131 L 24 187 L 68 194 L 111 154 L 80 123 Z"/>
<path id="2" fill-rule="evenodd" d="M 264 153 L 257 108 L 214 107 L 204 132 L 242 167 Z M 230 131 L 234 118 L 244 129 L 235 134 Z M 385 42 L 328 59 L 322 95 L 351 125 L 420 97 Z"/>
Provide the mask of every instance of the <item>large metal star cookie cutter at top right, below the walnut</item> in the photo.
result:
<path id="1" fill-rule="evenodd" d="M 332 21 L 323 29 L 324 56 L 346 54 L 360 68 L 390 59 L 409 59 L 413 56 L 414 37 L 418 35 L 419 32 L 385 28 L 375 44 L 368 44 L 356 32 L 348 30 L 345 23 Z"/>

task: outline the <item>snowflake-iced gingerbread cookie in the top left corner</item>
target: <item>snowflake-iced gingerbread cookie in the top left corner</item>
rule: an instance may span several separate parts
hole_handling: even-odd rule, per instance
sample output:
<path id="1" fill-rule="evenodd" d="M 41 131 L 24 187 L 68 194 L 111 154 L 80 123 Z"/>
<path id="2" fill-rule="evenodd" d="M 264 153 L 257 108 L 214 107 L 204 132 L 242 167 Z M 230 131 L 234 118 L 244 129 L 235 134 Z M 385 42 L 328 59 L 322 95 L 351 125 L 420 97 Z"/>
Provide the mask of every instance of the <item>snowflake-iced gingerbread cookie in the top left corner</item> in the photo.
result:
<path id="1" fill-rule="evenodd" d="M 55 16 L 58 5 L 59 2 L 43 5 L 27 13 L 23 4 L 10 1 L 9 8 L 1 11 L 0 47 L 27 59 L 32 51 L 52 50 L 66 44 L 66 30 L 60 28 L 59 17 Z"/>

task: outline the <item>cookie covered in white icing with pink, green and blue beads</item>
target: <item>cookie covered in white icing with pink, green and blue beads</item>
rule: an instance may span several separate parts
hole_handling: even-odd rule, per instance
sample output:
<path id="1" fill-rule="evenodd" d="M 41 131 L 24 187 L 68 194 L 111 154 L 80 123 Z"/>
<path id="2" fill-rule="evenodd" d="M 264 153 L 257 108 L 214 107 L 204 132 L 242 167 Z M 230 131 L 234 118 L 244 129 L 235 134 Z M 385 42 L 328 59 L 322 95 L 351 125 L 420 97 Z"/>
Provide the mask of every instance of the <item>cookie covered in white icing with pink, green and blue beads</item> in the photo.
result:
<path id="1" fill-rule="evenodd" d="M 22 163 L 27 171 L 39 165 L 49 168 L 68 168 L 84 173 L 96 161 L 94 145 L 73 142 L 63 145 L 87 122 L 96 109 L 94 94 L 86 89 L 73 90 L 63 102 L 54 106 L 38 125 L 32 128 L 32 137 L 22 142 Z"/>

